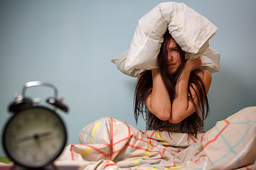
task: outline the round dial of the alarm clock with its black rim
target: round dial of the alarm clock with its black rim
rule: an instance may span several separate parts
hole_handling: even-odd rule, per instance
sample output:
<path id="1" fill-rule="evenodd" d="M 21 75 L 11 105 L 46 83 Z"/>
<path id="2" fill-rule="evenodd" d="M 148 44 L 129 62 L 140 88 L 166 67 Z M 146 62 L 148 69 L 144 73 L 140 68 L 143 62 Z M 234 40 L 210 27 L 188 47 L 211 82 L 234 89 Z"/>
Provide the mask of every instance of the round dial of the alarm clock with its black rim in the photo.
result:
<path id="1" fill-rule="evenodd" d="M 16 113 L 3 134 L 6 154 L 26 167 L 42 167 L 53 162 L 66 142 L 65 125 L 48 108 L 33 107 Z"/>

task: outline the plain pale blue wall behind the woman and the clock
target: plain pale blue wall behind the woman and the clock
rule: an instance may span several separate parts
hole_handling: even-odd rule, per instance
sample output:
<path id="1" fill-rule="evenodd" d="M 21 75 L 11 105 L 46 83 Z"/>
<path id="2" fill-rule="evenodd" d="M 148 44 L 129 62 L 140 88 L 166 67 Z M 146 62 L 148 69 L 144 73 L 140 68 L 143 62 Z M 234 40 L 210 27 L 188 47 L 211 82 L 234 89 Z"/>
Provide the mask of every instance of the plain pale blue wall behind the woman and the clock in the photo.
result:
<path id="1" fill-rule="evenodd" d="M 68 126 L 68 144 L 88 123 L 112 116 L 144 130 L 133 118 L 137 79 L 110 62 L 129 48 L 139 18 L 160 0 L 1 0 L 0 135 L 11 117 L 7 106 L 27 81 L 57 86 L 70 112 L 60 113 Z M 177 1 L 178 2 L 178 1 Z M 179 1 L 218 27 L 210 47 L 220 52 L 220 72 L 213 74 L 206 130 L 242 108 L 256 105 L 256 1 Z M 35 87 L 26 96 L 53 96 Z M 0 139 L 1 140 L 1 139 Z M 4 151 L 0 147 L 0 156 Z"/>

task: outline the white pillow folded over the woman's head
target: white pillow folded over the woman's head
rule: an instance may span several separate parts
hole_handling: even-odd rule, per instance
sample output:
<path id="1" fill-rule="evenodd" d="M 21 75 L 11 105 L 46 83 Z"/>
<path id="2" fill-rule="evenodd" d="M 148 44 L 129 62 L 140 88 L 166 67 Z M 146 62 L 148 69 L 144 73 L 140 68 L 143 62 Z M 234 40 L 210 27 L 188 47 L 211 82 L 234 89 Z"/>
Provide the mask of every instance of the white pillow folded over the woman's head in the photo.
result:
<path id="1" fill-rule="evenodd" d="M 203 55 L 202 68 L 218 72 L 220 55 L 208 47 L 208 40 L 215 35 L 217 28 L 192 8 L 176 2 L 161 3 L 146 13 L 139 20 L 129 50 L 114 57 L 112 62 L 121 72 L 132 77 L 146 69 L 156 68 L 157 55 L 167 29 L 186 52 L 186 58 Z"/>

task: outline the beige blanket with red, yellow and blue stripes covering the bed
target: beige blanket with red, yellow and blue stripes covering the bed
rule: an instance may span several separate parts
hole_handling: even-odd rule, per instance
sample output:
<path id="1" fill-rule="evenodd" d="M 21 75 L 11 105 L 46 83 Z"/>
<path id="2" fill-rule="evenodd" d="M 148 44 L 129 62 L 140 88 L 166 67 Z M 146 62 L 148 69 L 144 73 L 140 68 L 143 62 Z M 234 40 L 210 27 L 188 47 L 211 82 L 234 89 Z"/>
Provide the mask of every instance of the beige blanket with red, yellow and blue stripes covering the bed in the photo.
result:
<path id="1" fill-rule="evenodd" d="M 256 107 L 219 121 L 197 139 L 186 133 L 142 132 L 124 121 L 101 118 L 80 131 L 55 164 L 80 169 L 256 168 Z M 255 166 L 255 167 L 253 167 Z"/>

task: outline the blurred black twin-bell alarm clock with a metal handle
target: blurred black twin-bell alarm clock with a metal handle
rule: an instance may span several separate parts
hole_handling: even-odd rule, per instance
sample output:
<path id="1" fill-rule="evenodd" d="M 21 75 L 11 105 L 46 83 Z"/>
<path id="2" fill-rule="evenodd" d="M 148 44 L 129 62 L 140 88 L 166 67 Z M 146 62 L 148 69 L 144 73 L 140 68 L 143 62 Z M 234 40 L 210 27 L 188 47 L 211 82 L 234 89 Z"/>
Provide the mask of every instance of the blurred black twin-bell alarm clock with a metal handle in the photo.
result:
<path id="1" fill-rule="evenodd" d="M 25 91 L 32 86 L 48 86 L 55 92 L 53 98 L 46 101 L 55 109 L 39 105 L 31 98 L 26 98 Z M 14 167 L 19 169 L 48 169 L 53 161 L 63 152 L 67 141 L 65 124 L 56 109 L 68 113 L 68 107 L 57 99 L 58 91 L 52 84 L 30 81 L 23 86 L 21 96 L 9 106 L 14 113 L 5 125 L 3 146 Z"/>

